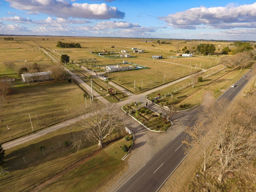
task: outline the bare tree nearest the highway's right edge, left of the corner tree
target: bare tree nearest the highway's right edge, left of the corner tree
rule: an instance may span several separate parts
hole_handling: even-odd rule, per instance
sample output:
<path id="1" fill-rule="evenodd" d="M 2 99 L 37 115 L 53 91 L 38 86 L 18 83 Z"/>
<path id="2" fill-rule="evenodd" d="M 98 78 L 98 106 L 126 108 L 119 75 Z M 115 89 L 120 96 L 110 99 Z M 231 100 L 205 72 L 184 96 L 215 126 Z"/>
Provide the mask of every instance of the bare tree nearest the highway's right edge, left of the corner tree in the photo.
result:
<path id="1" fill-rule="evenodd" d="M 185 144 L 185 152 L 188 153 L 192 148 L 201 151 L 204 157 L 204 168 L 206 170 L 207 163 L 209 161 L 210 155 L 213 151 L 213 146 L 207 135 L 209 126 L 197 121 L 193 127 L 186 127 L 184 132 L 187 133 L 186 138 L 182 141 Z"/>

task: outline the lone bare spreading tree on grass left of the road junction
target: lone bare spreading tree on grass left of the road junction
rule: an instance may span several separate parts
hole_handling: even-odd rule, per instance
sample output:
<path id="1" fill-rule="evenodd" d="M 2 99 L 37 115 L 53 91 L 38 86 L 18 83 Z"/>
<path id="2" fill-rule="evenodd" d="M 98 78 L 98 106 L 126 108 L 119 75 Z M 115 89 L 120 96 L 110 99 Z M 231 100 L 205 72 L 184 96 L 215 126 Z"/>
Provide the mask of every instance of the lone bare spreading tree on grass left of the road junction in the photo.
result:
<path id="1" fill-rule="evenodd" d="M 83 138 L 90 138 L 98 141 L 99 148 L 102 148 L 102 140 L 111 135 L 114 130 L 120 130 L 118 120 L 118 108 L 111 103 L 105 104 L 94 102 L 90 111 L 87 111 L 81 119 L 81 126 L 84 130 Z M 90 117 L 86 117 L 90 113 Z"/>

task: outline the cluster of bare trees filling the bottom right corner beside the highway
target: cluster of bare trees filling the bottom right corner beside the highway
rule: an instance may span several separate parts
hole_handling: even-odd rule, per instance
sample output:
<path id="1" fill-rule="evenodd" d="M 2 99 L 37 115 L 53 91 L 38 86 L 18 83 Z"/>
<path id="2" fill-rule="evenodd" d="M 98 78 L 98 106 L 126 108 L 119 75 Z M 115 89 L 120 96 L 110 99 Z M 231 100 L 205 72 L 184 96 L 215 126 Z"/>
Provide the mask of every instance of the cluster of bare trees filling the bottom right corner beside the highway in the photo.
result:
<path id="1" fill-rule="evenodd" d="M 256 175 L 251 169 L 255 169 L 256 160 L 255 99 L 253 95 L 244 97 L 233 111 L 227 111 L 224 102 L 216 103 L 202 111 L 202 118 L 193 127 L 186 127 L 186 150 L 194 148 L 201 152 L 204 177 L 218 181 L 209 181 L 216 185 L 207 186 L 208 190 L 215 191 L 220 186 L 225 190 L 230 187 L 226 186 L 230 179 L 239 183 L 234 188 L 254 183 Z M 197 186 L 202 187 L 200 191 L 205 187 L 204 183 Z"/>

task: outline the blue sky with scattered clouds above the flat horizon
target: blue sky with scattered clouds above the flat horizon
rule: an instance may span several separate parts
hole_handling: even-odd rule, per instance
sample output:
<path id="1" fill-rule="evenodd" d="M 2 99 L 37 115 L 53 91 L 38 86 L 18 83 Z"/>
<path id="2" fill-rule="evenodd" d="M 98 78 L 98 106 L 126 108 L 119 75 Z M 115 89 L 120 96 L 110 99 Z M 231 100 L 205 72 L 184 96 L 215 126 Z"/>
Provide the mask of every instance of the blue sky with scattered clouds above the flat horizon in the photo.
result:
<path id="1" fill-rule="evenodd" d="M 0 34 L 256 40 L 256 2 L 6 0 Z"/>

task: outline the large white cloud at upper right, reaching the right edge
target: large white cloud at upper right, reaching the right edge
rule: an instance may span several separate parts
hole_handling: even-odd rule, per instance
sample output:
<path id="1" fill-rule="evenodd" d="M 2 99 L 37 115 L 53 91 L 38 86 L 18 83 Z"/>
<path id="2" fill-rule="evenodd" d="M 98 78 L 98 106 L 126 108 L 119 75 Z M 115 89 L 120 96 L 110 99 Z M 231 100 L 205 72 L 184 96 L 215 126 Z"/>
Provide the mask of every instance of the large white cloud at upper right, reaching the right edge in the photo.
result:
<path id="1" fill-rule="evenodd" d="M 196 29 L 202 25 L 217 29 L 255 27 L 256 2 L 234 7 L 198 7 L 161 17 L 167 25 L 179 29 Z"/>

